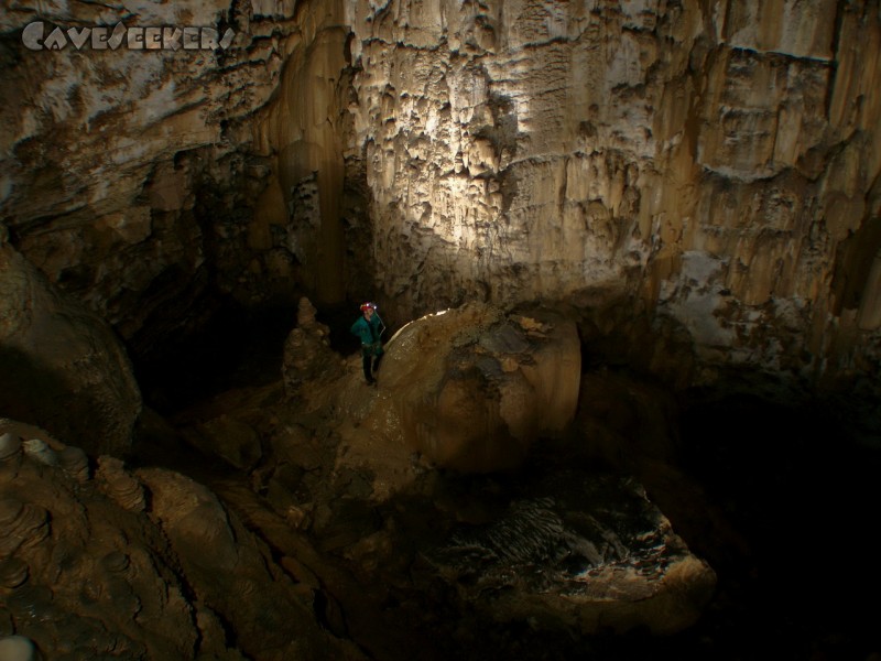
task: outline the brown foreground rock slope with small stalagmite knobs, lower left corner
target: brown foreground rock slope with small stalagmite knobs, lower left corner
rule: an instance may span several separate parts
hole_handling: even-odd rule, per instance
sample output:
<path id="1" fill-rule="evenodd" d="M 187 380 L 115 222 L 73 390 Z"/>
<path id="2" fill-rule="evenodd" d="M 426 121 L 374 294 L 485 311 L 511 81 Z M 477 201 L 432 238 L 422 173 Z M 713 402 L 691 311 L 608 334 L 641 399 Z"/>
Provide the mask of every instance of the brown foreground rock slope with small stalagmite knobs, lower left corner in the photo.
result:
<path id="1" fill-rule="evenodd" d="M 2 649 L 48 659 L 361 658 L 318 626 L 311 590 L 207 488 L 106 455 L 93 470 L 84 456 L 0 420 Z"/>

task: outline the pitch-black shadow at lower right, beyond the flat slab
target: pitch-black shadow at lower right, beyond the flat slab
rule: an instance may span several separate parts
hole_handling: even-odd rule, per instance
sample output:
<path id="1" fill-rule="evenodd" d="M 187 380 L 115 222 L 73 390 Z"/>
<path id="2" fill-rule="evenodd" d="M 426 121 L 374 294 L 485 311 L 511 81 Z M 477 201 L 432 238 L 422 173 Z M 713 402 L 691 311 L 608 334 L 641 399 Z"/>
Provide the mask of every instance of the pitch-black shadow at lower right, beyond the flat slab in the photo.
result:
<path id="1" fill-rule="evenodd" d="M 834 401 L 693 392 L 681 418 L 681 469 L 749 544 L 720 548 L 681 527 L 719 576 L 695 635 L 714 658 L 858 659 L 881 650 L 872 521 L 881 453 L 859 444 Z M 667 511 L 674 527 L 676 512 Z"/>

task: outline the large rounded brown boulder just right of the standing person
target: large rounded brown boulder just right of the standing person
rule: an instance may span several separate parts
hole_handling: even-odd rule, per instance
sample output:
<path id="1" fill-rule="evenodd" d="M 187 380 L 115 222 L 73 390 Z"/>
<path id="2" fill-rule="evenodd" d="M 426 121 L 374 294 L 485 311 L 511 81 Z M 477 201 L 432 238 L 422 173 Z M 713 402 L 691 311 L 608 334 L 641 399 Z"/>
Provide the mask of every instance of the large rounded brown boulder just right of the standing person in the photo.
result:
<path id="1" fill-rule="evenodd" d="M 534 441 L 567 427 L 580 362 L 573 322 L 468 304 L 399 330 L 380 387 L 413 448 L 438 466 L 486 473 L 518 466 Z"/>

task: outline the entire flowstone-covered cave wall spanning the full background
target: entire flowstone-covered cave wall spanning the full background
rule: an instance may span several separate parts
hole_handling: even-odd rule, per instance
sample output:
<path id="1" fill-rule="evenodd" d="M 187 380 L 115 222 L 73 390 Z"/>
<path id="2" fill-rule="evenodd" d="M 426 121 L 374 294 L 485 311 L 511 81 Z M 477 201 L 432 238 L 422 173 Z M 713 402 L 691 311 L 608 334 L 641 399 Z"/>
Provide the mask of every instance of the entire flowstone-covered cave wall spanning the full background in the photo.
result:
<path id="1" fill-rule="evenodd" d="M 236 30 L 188 53 L 31 52 L 35 15 L 0 14 L 0 217 L 130 348 L 211 291 L 540 299 L 689 382 L 878 368 L 877 0 L 41 6 Z"/>

